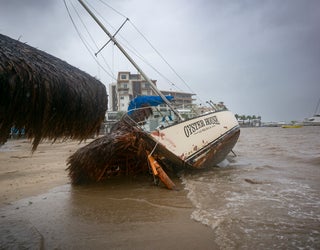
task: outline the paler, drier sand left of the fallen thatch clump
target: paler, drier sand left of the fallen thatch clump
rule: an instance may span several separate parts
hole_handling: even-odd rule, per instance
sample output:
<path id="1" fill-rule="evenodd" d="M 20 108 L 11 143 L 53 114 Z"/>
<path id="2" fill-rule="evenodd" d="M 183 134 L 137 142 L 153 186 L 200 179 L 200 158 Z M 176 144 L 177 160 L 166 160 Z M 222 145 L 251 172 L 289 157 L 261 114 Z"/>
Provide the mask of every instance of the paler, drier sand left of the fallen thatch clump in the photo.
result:
<path id="1" fill-rule="evenodd" d="M 43 142 L 32 154 L 27 139 L 0 147 L 0 205 L 38 195 L 69 183 L 66 160 L 85 142 Z"/>

